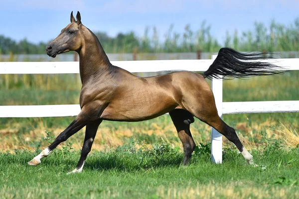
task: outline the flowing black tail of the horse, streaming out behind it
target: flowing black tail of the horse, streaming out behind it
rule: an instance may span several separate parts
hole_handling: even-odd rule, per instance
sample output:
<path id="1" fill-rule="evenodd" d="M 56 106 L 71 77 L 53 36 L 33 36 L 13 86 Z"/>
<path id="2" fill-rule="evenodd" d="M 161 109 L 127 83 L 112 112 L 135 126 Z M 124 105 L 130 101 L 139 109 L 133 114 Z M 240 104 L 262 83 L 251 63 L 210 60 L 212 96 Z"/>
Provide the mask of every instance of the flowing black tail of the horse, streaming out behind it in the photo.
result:
<path id="1" fill-rule="evenodd" d="M 233 79 L 284 73 L 273 71 L 282 70 L 281 67 L 261 61 L 270 58 L 267 53 L 240 53 L 231 48 L 221 48 L 213 64 L 202 75 L 209 79 Z"/>

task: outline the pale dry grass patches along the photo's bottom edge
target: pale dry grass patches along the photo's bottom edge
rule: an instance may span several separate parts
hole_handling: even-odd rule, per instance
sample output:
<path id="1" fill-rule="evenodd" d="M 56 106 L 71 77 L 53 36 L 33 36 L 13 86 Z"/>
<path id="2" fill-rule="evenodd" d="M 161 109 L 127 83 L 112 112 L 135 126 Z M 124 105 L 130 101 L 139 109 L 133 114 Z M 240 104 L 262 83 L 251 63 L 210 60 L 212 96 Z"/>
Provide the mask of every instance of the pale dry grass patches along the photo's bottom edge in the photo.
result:
<path id="1" fill-rule="evenodd" d="M 229 198 L 229 199 L 287 199 L 287 196 L 292 196 L 292 198 L 299 198 L 299 191 L 294 192 L 291 188 L 280 188 L 273 187 L 271 189 L 266 189 L 267 186 L 261 187 L 251 187 L 248 185 L 243 188 L 244 183 L 228 183 L 226 185 L 217 186 L 215 184 L 200 185 L 197 186 L 187 186 L 183 189 L 178 186 L 173 186 L 172 188 L 165 188 L 164 186 L 159 186 L 156 189 L 156 197 L 160 199 L 219 199 L 219 198 Z M 26 190 L 26 195 L 20 194 L 18 192 L 13 193 L 13 188 L 5 187 L 1 190 L 1 196 L 7 199 L 13 198 L 35 198 L 35 195 L 39 192 L 43 193 L 53 193 L 53 188 L 29 188 Z M 76 191 L 69 191 L 70 195 L 76 193 Z M 109 198 L 119 198 L 123 193 L 118 192 L 114 189 L 103 190 L 102 197 L 104 199 Z M 88 198 L 96 198 L 95 193 L 90 193 Z"/>

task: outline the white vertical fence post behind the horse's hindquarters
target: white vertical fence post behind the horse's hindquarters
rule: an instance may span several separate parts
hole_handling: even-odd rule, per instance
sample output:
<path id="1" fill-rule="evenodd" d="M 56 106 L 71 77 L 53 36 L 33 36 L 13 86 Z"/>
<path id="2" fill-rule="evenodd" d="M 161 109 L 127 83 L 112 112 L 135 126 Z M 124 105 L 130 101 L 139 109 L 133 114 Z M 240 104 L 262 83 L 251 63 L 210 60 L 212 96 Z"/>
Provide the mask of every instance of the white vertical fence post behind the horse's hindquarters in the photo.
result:
<path id="1" fill-rule="evenodd" d="M 212 55 L 215 60 L 217 55 Z M 212 79 L 212 91 L 214 94 L 218 115 L 222 118 L 222 79 Z M 222 163 L 222 134 L 212 128 L 211 133 L 211 160 L 214 163 Z"/>

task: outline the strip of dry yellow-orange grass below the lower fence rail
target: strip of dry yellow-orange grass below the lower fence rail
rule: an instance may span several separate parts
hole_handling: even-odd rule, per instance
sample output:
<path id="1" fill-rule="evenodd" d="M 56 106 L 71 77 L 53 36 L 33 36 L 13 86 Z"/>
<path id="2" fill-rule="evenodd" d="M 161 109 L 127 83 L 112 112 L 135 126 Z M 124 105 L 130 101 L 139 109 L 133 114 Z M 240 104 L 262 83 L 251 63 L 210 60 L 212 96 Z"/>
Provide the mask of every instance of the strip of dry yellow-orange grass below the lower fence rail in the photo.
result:
<path id="1" fill-rule="evenodd" d="M 158 121 L 159 120 L 156 119 L 148 125 L 144 123 L 132 126 L 117 124 L 115 128 L 111 127 L 111 125 L 114 124 L 113 122 L 108 122 L 108 125 L 104 124 L 100 126 L 93 145 L 93 150 L 116 148 L 127 144 L 128 141 L 132 139 L 139 141 L 136 142 L 136 145 L 143 144 L 148 145 L 148 147 L 155 141 L 170 143 L 173 147 L 181 147 L 181 142 L 171 120 L 161 118 L 161 123 Z M 32 151 L 36 149 L 38 144 L 41 148 L 45 148 L 49 145 L 48 141 L 44 139 L 46 137 L 45 131 L 51 131 L 51 134 L 56 137 L 66 127 L 49 128 L 41 119 L 33 130 L 20 133 L 18 132 L 18 129 L 20 129 L 18 125 L 20 124 L 16 123 L 13 128 L 0 130 L 2 139 L 0 142 L 0 151 L 13 151 L 15 149 L 27 149 Z M 296 147 L 299 144 L 299 133 L 296 130 L 296 126 L 293 127 L 286 123 L 272 120 L 251 124 L 248 122 L 240 122 L 236 124 L 235 129 L 242 143 L 249 149 L 263 145 L 265 142 L 264 139 L 269 143 L 275 140 L 281 140 L 283 145 L 290 147 Z M 191 132 L 197 144 L 210 141 L 210 131 L 211 128 L 208 125 L 198 120 L 191 125 Z M 73 143 L 72 147 L 74 149 L 81 149 L 84 132 L 85 129 L 82 129 L 69 138 L 68 142 Z M 259 132 L 264 132 L 264 134 Z M 150 140 L 150 138 L 153 140 Z M 228 140 L 224 137 L 223 142 L 226 143 Z M 61 144 L 61 146 L 64 145 L 65 143 Z"/>

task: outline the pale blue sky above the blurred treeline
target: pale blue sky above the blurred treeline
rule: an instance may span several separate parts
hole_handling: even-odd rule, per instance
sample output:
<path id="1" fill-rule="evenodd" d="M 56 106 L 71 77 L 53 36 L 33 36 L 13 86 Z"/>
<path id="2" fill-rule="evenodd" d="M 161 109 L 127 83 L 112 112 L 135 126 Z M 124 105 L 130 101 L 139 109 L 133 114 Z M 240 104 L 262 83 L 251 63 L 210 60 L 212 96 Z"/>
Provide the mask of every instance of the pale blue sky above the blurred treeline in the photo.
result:
<path id="1" fill-rule="evenodd" d="M 72 10 L 80 11 L 92 31 L 111 36 L 131 30 L 142 36 L 146 26 L 156 26 L 162 40 L 170 24 L 183 32 L 186 24 L 198 30 L 206 20 L 211 34 L 223 41 L 226 30 L 241 33 L 253 29 L 255 21 L 294 24 L 299 0 L 0 0 L 0 34 L 49 41 L 70 22 Z"/>

